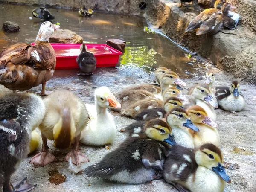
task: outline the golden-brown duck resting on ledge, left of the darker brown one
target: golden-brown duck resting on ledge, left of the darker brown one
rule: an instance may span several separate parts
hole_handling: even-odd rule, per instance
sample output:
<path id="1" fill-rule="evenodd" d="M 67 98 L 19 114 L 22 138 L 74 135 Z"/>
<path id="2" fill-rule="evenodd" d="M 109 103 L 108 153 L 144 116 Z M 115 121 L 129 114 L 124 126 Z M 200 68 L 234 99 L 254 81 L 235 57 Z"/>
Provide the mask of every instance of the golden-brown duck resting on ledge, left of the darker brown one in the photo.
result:
<path id="1" fill-rule="evenodd" d="M 221 7 L 226 2 L 227 2 L 226 0 L 216 0 L 214 4 L 214 8 L 205 9 L 203 12 L 201 12 L 197 17 L 195 17 L 192 21 L 190 21 L 185 31 L 188 32 L 192 29 L 197 29 L 212 15 L 215 15 L 216 13 L 221 13 Z"/>

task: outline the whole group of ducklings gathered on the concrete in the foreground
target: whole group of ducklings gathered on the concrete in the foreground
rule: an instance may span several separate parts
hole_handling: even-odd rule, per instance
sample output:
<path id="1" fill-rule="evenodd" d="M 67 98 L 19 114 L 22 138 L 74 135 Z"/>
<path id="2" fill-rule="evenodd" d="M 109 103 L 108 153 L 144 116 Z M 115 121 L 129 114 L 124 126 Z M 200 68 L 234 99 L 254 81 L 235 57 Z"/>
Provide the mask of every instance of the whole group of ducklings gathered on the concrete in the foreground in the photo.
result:
<path id="1" fill-rule="evenodd" d="M 54 140 L 59 149 L 70 148 L 73 143 L 64 160 L 78 165 L 89 161 L 79 151 L 79 143 L 105 146 L 114 142 L 116 125 L 108 111 L 111 108 L 137 121 L 125 128 L 128 138 L 123 143 L 79 173 L 129 184 L 164 178 L 180 192 L 222 192 L 231 180 L 223 167 L 215 108 L 244 108 L 239 83 L 214 87 L 214 74 L 207 72 L 204 83 L 196 84 L 184 95 L 181 90 L 186 83 L 175 72 L 160 67 L 155 77 L 159 86 L 128 87 L 116 97 L 108 87 L 99 87 L 94 93 L 94 105 L 84 104 L 67 90 L 56 90 L 44 99 L 34 93 L 0 95 L 3 191 L 30 191 L 36 187 L 26 183 L 26 178 L 10 182 L 17 165 L 39 143 L 35 128 L 41 131 L 43 144 L 30 163 L 44 166 L 56 161 L 47 146 L 47 140 Z"/>

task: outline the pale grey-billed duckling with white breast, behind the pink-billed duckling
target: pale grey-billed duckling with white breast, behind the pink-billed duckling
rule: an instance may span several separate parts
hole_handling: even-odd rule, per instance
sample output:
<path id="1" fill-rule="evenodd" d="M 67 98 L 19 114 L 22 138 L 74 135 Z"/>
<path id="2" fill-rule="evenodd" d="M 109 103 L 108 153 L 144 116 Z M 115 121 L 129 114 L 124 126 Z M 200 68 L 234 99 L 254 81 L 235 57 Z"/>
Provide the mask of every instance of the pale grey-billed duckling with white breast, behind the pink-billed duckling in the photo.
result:
<path id="1" fill-rule="evenodd" d="M 193 88 L 193 92 L 189 97 L 189 102 L 186 102 L 186 104 L 183 103 L 183 106 L 186 109 L 192 105 L 201 106 L 213 121 L 216 120 L 214 109 L 218 108 L 218 104 L 212 98 L 212 92 L 209 90 L 208 85 L 198 84 Z"/>

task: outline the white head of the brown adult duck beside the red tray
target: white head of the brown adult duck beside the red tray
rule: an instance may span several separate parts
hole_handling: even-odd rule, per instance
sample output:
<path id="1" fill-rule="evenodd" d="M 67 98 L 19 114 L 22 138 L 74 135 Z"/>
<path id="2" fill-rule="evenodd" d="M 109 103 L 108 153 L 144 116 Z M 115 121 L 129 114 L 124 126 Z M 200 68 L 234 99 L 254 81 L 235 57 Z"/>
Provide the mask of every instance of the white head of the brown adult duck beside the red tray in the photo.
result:
<path id="1" fill-rule="evenodd" d="M 49 38 L 53 32 L 58 29 L 59 25 L 54 25 L 49 21 L 45 21 L 41 24 L 36 41 L 49 41 Z"/>

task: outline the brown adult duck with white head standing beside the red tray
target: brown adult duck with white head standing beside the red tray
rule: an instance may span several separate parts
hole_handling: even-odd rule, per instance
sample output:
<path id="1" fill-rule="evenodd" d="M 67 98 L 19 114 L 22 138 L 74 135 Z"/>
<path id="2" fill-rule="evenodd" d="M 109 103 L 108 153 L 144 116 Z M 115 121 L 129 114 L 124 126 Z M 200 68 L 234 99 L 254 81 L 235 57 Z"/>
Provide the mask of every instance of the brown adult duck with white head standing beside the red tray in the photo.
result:
<path id="1" fill-rule="evenodd" d="M 41 95 L 44 95 L 45 83 L 52 78 L 56 66 L 56 55 L 48 41 L 54 30 L 52 23 L 44 22 L 34 46 L 20 43 L 3 50 L 0 54 L 0 84 L 20 91 L 42 84 Z"/>

